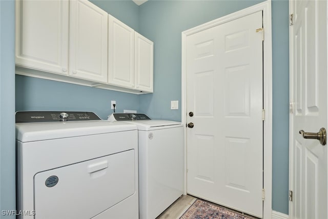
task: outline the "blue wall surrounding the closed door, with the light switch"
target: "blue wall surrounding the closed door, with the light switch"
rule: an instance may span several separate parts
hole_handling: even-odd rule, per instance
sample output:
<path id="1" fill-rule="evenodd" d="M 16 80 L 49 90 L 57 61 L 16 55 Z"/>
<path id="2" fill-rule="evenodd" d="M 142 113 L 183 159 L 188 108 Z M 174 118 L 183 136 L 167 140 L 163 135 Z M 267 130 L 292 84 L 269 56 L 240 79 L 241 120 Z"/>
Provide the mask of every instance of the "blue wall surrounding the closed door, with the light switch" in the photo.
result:
<path id="1" fill-rule="evenodd" d="M 181 32 L 260 1 L 149 1 L 139 8 L 139 32 L 154 42 L 154 93 L 139 97 L 153 118 L 181 121 Z M 288 1 L 272 2 L 273 210 L 288 214 L 289 24 Z"/>

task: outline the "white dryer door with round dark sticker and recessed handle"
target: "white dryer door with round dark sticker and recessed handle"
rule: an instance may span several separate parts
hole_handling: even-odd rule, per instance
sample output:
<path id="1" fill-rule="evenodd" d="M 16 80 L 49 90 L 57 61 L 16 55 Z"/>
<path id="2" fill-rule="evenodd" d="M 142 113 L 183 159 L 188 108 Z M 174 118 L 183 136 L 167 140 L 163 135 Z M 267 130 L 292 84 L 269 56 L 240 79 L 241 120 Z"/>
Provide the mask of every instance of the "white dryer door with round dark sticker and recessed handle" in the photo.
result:
<path id="1" fill-rule="evenodd" d="M 134 194 L 135 174 L 134 150 L 39 172 L 35 218 L 91 218 Z"/>

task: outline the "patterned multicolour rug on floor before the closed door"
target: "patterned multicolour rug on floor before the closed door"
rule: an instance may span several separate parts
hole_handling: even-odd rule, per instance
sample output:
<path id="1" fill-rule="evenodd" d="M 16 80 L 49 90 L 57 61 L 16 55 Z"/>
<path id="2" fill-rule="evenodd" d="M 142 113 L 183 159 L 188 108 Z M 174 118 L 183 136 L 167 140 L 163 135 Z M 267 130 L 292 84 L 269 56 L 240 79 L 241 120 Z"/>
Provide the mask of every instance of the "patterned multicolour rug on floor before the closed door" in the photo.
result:
<path id="1" fill-rule="evenodd" d="M 209 203 L 207 201 L 197 199 L 190 208 L 182 214 L 180 219 L 253 219 L 253 217 L 245 216 L 227 208 Z"/>

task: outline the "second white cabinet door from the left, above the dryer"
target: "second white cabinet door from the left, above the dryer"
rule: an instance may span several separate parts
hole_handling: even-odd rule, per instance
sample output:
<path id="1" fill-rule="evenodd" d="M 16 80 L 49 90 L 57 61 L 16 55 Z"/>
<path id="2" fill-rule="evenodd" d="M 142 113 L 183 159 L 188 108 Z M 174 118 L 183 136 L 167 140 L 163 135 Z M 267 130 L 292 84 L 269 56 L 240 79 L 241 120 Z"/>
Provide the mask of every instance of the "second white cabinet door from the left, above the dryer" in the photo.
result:
<path id="1" fill-rule="evenodd" d="M 69 74 L 107 82 L 108 13 L 87 0 L 70 3 Z"/>

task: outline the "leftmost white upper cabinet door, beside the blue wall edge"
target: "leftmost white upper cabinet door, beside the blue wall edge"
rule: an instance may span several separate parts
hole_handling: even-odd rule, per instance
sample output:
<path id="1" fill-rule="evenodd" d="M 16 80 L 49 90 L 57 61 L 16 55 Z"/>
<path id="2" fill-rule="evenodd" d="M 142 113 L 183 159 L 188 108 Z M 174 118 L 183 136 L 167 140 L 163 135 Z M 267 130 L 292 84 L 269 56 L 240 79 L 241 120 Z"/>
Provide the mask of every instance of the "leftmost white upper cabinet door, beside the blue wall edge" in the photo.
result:
<path id="1" fill-rule="evenodd" d="M 68 1 L 16 1 L 16 65 L 67 74 Z"/>

